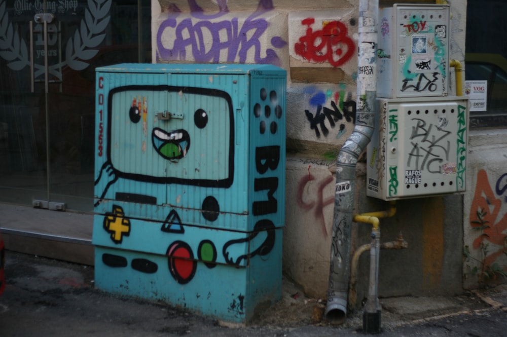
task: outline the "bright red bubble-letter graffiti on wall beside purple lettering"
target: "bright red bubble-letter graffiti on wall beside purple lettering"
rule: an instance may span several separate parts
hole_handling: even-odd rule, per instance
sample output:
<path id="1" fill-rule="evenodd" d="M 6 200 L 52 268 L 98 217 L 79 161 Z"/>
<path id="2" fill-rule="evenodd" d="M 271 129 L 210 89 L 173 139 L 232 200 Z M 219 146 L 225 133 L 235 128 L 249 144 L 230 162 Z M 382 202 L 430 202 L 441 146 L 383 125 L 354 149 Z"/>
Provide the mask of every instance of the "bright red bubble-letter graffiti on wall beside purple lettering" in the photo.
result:
<path id="1" fill-rule="evenodd" d="M 328 62 L 334 67 L 345 64 L 355 55 L 354 41 L 343 22 L 325 22 L 322 29 L 317 30 L 313 30 L 314 23 L 313 18 L 301 21 L 307 28 L 294 46 L 297 55 L 311 62 Z"/>

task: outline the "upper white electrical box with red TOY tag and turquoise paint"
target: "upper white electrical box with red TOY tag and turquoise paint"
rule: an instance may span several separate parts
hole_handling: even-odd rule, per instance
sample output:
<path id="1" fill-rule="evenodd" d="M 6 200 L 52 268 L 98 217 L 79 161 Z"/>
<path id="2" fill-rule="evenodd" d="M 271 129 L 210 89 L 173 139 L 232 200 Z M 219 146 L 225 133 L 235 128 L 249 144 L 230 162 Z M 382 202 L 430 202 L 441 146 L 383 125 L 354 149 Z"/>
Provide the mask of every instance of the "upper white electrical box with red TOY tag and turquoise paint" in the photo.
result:
<path id="1" fill-rule="evenodd" d="M 379 11 L 377 96 L 447 96 L 449 5 L 401 5 Z"/>

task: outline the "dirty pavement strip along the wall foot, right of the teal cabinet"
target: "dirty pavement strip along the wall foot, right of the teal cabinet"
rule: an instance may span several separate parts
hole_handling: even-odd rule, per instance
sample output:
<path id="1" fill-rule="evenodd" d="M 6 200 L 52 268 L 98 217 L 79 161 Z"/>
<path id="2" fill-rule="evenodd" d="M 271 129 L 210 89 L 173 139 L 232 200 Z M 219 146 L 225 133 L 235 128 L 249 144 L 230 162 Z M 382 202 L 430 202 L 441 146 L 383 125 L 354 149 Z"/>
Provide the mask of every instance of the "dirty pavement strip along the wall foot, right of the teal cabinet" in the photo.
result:
<path id="1" fill-rule="evenodd" d="M 455 296 L 406 296 L 380 298 L 382 305 L 381 326 L 393 330 L 405 325 L 421 324 L 462 314 L 475 314 L 489 310 L 507 312 L 507 285 L 499 285 L 488 290 L 465 291 Z M 305 324 L 328 326 L 322 317 L 325 301 L 308 298 L 298 287 L 284 279 L 282 299 L 253 324 Z M 340 327 L 346 329 L 363 328 L 363 311 L 349 313 Z"/>

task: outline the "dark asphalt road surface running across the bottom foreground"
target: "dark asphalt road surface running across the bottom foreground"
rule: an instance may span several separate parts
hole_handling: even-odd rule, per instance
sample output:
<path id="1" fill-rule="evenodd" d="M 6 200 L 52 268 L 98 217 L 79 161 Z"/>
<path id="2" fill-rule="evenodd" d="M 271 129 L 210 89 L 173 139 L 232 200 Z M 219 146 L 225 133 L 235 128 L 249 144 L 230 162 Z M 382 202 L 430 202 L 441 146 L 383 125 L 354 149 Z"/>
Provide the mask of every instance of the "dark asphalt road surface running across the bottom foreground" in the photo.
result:
<path id="1" fill-rule="evenodd" d="M 223 327 L 216 320 L 165 304 L 113 296 L 93 287 L 93 268 L 7 252 L 7 287 L 0 297 L 0 337 L 14 336 L 357 336 L 362 326 L 283 322 Z M 507 287 L 505 287 L 507 289 Z M 382 336 L 507 335 L 507 290 L 477 310 L 411 320 Z M 290 308 L 287 308 L 290 310 Z"/>

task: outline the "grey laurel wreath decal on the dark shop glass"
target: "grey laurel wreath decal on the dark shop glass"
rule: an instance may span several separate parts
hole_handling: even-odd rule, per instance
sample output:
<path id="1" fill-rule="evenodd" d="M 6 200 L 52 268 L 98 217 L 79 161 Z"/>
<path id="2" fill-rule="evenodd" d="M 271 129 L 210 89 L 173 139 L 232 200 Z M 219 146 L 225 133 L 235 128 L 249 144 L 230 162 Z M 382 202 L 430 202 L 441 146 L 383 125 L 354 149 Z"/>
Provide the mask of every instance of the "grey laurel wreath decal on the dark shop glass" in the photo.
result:
<path id="1" fill-rule="evenodd" d="M 100 45 L 105 38 L 103 31 L 109 24 L 112 0 L 88 0 L 85 17 L 80 27 L 76 29 L 74 38 L 69 38 L 65 45 L 65 60 L 53 64 L 48 71 L 58 79 L 62 79 L 61 67 L 68 65 L 74 70 L 83 70 L 89 63 L 85 62 L 97 55 L 93 49 Z M 9 20 L 5 0 L 0 0 L 0 57 L 8 62 L 9 68 L 21 70 L 29 66 L 29 53 L 26 42 L 19 36 Z M 44 66 L 34 64 L 35 77 L 44 74 Z"/>

